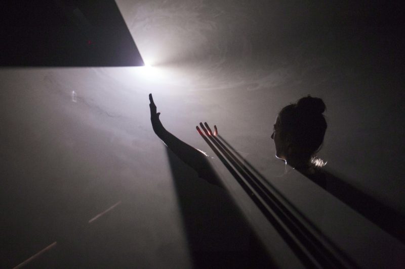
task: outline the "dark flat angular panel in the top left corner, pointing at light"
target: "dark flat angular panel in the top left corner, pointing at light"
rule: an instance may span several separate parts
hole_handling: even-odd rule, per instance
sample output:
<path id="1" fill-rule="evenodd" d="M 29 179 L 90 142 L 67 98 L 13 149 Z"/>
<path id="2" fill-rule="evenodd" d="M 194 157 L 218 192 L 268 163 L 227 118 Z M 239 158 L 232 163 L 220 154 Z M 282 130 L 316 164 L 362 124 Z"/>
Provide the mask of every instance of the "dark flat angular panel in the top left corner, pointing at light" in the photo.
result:
<path id="1" fill-rule="evenodd" d="M 113 0 L 3 1 L 0 66 L 143 66 Z"/>

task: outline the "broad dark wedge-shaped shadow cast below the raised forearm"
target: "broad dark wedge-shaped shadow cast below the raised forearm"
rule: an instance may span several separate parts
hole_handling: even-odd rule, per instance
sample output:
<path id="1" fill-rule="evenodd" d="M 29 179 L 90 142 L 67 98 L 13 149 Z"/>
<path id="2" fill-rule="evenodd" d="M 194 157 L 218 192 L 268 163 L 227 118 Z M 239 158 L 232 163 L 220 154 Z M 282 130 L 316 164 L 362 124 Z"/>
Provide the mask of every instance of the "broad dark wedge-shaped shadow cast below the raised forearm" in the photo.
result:
<path id="1" fill-rule="evenodd" d="M 197 179 L 192 169 L 166 150 L 194 267 L 270 266 L 259 240 L 226 191 Z"/>

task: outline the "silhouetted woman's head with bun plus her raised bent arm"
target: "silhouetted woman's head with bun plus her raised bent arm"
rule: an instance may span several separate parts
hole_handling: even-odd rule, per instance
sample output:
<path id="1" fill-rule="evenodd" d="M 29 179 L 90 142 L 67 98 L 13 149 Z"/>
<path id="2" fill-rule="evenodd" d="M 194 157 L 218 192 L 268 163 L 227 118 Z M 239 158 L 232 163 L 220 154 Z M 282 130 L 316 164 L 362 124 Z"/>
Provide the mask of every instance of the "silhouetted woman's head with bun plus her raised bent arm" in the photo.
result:
<path id="1" fill-rule="evenodd" d="M 193 168 L 200 178 L 221 185 L 216 173 L 211 169 L 207 157 L 197 149 L 184 143 L 168 132 L 159 120 L 152 94 L 150 100 L 150 119 L 155 134 L 180 158 Z M 322 99 L 303 97 L 295 104 L 284 107 L 277 116 L 271 138 L 274 140 L 276 157 L 306 176 L 315 175 L 317 168 L 323 166 L 315 158 L 323 141 L 327 123 L 322 113 L 326 106 Z"/>

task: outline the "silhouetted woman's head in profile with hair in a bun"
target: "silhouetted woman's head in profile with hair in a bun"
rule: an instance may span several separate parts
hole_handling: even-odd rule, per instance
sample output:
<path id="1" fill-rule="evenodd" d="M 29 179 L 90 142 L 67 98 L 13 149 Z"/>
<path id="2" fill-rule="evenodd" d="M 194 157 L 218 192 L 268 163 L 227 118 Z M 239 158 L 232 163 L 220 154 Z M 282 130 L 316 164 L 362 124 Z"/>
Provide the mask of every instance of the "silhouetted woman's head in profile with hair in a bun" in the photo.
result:
<path id="1" fill-rule="evenodd" d="M 278 114 L 271 136 L 276 156 L 287 162 L 308 162 L 319 150 L 325 136 L 325 109 L 322 99 L 309 95 L 285 106 Z"/>

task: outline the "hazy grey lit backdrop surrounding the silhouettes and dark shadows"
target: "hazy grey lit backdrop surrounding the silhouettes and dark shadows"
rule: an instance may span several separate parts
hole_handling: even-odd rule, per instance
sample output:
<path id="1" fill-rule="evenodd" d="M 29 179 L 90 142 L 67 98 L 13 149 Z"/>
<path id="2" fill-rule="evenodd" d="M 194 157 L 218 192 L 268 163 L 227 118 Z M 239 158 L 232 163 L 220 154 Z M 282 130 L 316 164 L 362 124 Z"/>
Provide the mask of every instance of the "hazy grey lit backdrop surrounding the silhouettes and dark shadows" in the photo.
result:
<path id="1" fill-rule="evenodd" d="M 58 247 L 43 262 L 55 266 L 191 266 L 187 220 L 204 223 L 225 192 L 173 160 L 151 128 L 148 93 L 165 127 L 214 157 L 228 186 L 237 184 L 195 131 L 201 121 L 216 124 L 360 267 L 405 264 L 397 239 L 295 171 L 284 174 L 270 139 L 282 107 L 308 94 L 321 97 L 329 127 L 318 155 L 327 168 L 405 214 L 398 7 L 203 0 L 117 5 L 153 67 L 0 70 L 1 267 L 54 241 Z M 176 180 L 173 164 L 183 179 Z M 189 185 L 179 189 L 184 180 Z M 196 201 L 187 213 L 182 204 L 192 197 L 186 190 L 210 201 L 210 208 L 200 213 Z M 235 191 L 238 197 L 245 199 Z M 248 215 L 252 205 L 236 203 Z M 220 212 L 213 221 L 228 216 Z M 223 251 L 235 241 L 246 247 L 245 224 L 235 225 L 232 231 L 245 232 L 229 233 L 223 244 L 210 239 L 226 230 L 222 225 L 208 229 L 209 243 L 197 247 Z M 267 236 L 279 242 L 264 242 L 268 250 L 286 253 L 273 252 L 275 264 L 301 266 L 276 235 Z"/>

